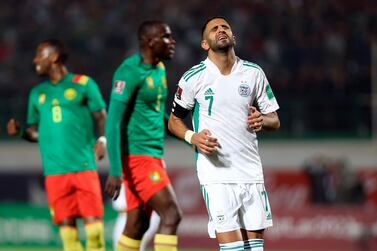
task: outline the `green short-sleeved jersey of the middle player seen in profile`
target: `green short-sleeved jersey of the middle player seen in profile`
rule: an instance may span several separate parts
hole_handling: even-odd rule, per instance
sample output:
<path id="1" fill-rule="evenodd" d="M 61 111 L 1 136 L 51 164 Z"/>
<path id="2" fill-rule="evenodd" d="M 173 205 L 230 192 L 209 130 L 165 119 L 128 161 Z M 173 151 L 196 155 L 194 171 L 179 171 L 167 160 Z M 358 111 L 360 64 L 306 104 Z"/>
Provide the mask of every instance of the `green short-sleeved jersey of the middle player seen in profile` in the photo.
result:
<path id="1" fill-rule="evenodd" d="M 143 63 L 140 54 L 127 58 L 113 77 L 111 100 L 127 104 L 121 128 L 123 154 L 162 158 L 167 96 L 165 67 Z"/>

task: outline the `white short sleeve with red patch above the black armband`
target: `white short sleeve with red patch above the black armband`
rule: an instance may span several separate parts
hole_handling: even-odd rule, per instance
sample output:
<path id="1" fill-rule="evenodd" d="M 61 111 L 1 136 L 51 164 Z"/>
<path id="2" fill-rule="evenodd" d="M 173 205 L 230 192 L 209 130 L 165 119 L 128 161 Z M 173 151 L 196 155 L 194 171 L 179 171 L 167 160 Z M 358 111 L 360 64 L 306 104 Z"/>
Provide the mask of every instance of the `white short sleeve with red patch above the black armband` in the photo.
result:
<path id="1" fill-rule="evenodd" d="M 174 102 L 186 110 L 192 110 L 195 105 L 195 89 L 193 81 L 179 80 Z"/>

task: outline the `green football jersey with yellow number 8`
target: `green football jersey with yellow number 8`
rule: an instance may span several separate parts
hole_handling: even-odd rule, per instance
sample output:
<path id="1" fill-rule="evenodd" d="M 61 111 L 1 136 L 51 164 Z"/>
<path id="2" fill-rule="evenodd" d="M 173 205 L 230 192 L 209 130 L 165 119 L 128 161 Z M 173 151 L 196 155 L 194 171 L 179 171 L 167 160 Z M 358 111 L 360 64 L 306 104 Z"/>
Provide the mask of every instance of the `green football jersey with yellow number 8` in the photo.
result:
<path id="1" fill-rule="evenodd" d="M 85 75 L 69 73 L 31 90 L 27 123 L 38 126 L 44 175 L 96 169 L 91 112 L 105 106 L 96 82 Z"/>

